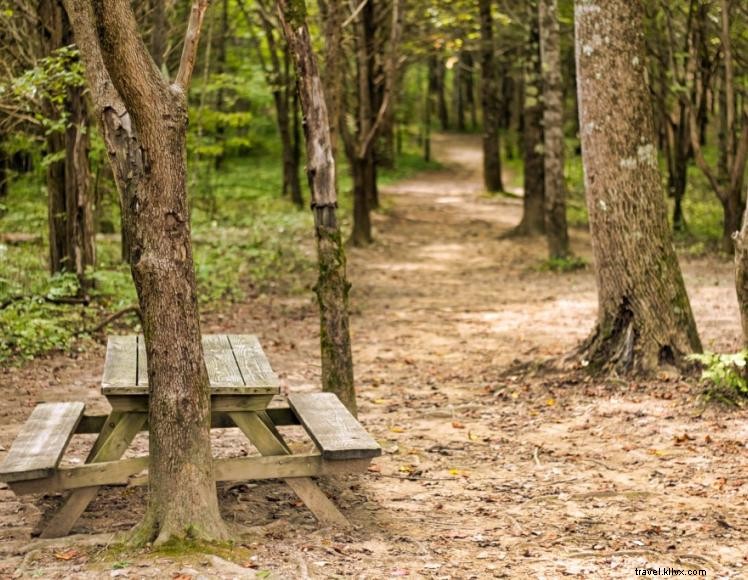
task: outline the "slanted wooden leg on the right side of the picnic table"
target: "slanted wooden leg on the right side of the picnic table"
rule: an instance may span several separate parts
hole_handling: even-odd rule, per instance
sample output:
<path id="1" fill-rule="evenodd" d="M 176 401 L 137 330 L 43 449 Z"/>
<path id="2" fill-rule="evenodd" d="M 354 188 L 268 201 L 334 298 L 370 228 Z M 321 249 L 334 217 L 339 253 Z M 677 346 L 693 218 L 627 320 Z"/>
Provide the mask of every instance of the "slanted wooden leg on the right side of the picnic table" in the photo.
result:
<path id="1" fill-rule="evenodd" d="M 229 415 L 262 455 L 291 454 L 265 411 L 233 412 Z M 299 496 L 320 522 L 344 528 L 350 527 L 350 522 L 311 477 L 289 477 L 283 481 Z"/>

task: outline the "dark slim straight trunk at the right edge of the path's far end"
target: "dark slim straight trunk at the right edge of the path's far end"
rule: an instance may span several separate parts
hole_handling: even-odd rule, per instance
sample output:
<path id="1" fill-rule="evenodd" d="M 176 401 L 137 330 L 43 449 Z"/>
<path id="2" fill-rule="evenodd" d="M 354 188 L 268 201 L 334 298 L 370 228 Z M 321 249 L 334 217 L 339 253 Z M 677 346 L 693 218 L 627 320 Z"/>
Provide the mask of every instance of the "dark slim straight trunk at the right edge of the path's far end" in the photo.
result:
<path id="1" fill-rule="evenodd" d="M 488 191 L 503 191 L 499 144 L 499 86 L 493 42 L 491 0 L 478 0 L 481 34 L 481 105 L 483 108 L 483 180 Z"/>

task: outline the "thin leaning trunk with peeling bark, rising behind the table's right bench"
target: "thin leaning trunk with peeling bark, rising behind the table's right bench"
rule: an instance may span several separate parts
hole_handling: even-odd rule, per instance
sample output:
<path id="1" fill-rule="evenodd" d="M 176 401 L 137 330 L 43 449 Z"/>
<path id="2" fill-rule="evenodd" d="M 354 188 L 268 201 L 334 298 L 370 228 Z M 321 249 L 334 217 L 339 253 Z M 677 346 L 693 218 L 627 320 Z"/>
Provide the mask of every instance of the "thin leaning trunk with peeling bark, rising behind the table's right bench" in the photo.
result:
<path id="1" fill-rule="evenodd" d="M 304 0 L 293 0 L 305 9 Z M 299 95 L 304 113 L 307 147 L 307 177 L 317 239 L 319 277 L 315 286 L 320 311 L 322 390 L 335 393 L 356 414 L 353 358 L 348 323 L 348 289 L 345 251 L 340 236 L 335 182 L 335 158 L 325 96 L 317 59 L 307 28 L 305 10 L 289 11 L 286 0 L 278 0 L 288 44 L 296 61 Z"/>

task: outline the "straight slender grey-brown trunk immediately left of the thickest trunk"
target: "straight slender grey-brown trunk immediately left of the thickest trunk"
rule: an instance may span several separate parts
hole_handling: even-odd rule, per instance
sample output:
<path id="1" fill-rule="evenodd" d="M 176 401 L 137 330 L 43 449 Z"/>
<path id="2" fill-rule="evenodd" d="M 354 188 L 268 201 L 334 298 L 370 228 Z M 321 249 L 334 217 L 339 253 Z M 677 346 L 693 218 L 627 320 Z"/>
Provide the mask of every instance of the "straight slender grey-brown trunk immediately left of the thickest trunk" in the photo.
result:
<path id="1" fill-rule="evenodd" d="M 543 71 L 543 155 L 545 167 L 545 234 L 551 259 L 569 256 L 564 182 L 563 84 L 561 34 L 557 0 L 539 0 L 541 69 Z"/>

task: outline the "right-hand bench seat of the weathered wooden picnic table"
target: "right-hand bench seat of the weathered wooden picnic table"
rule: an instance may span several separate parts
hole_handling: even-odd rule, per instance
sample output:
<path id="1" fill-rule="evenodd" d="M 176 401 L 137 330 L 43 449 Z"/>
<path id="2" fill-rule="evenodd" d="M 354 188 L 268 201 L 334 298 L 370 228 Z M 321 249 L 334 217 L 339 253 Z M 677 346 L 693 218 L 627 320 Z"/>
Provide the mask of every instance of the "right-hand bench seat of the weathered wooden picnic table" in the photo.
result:
<path id="1" fill-rule="evenodd" d="M 325 459 L 378 457 L 382 448 L 333 393 L 296 393 L 288 403 Z"/>

